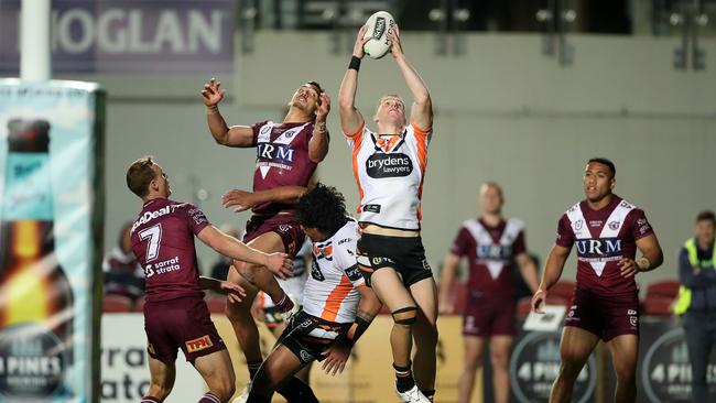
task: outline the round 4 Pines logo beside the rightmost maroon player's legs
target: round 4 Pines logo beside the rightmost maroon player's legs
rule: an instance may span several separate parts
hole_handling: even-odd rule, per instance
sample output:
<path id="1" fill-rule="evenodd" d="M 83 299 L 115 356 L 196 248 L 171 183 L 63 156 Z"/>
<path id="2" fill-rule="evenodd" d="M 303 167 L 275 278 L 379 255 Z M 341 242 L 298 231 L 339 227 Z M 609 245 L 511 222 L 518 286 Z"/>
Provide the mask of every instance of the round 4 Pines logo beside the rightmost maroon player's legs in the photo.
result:
<path id="1" fill-rule="evenodd" d="M 560 372 L 560 333 L 530 333 L 514 346 L 510 378 L 514 400 L 547 402 L 552 383 Z M 573 402 L 592 400 L 596 385 L 596 361 L 589 357 L 574 384 Z"/>

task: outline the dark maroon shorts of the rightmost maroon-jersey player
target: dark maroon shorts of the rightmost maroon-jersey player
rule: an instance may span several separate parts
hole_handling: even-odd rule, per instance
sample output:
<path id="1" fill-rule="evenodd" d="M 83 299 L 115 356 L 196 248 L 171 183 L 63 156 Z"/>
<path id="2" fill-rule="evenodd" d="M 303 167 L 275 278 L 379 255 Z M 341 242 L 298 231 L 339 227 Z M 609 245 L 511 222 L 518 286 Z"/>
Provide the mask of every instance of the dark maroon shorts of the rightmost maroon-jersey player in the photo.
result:
<path id="1" fill-rule="evenodd" d="M 621 335 L 639 336 L 639 295 L 633 292 L 605 296 L 577 287 L 564 326 L 585 329 L 604 341 Z"/>

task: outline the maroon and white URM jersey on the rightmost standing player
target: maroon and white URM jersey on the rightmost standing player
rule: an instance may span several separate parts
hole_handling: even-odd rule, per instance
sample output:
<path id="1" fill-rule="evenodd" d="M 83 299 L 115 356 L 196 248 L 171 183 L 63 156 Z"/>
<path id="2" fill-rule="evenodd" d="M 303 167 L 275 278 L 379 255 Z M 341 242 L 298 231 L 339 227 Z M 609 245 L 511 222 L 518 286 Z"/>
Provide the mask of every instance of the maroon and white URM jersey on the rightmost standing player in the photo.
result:
<path id="1" fill-rule="evenodd" d="M 577 247 L 577 286 L 599 295 L 637 291 L 634 277 L 619 273 L 619 260 L 634 259 L 637 240 L 653 233 L 644 211 L 614 195 L 593 210 L 586 200 L 572 206 L 557 225 L 556 244 Z"/>

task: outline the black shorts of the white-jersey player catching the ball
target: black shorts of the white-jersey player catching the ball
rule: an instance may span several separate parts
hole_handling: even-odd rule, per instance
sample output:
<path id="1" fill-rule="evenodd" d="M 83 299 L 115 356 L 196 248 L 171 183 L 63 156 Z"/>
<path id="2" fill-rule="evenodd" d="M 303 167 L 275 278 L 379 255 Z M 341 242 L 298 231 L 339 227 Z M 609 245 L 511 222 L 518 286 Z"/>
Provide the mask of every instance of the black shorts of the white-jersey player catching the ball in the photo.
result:
<path id="1" fill-rule="evenodd" d="M 433 271 L 425 259 L 425 248 L 421 237 L 387 237 L 364 233 L 356 250 L 360 272 L 370 286 L 370 275 L 378 269 L 393 268 L 410 286 L 421 280 L 432 277 Z"/>

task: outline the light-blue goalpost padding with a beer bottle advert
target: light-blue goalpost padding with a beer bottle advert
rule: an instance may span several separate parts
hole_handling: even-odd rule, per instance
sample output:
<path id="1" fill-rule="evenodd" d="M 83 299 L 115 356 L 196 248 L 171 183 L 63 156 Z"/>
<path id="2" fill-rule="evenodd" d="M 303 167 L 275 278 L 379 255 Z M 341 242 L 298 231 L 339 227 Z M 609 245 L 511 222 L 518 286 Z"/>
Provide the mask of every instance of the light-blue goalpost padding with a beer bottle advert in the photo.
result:
<path id="1" fill-rule="evenodd" d="M 96 85 L 0 80 L 2 402 L 93 401 L 102 128 Z"/>

